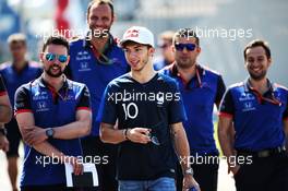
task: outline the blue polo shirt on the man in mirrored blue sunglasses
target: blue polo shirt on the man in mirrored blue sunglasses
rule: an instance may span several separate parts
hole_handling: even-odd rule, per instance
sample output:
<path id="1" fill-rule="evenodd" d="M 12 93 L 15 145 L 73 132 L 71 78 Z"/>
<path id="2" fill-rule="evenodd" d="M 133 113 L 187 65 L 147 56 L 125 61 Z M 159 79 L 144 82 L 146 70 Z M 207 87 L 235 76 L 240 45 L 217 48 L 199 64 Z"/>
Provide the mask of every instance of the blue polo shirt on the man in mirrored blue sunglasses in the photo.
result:
<path id="1" fill-rule="evenodd" d="M 35 126 L 44 129 L 76 121 L 80 109 L 89 110 L 89 93 L 86 85 L 70 80 L 56 92 L 39 77 L 22 85 L 15 94 L 15 115 L 33 112 Z M 67 156 L 82 156 L 80 139 L 51 139 L 48 142 Z M 44 155 L 25 144 L 21 187 L 59 183 L 65 183 L 64 165 L 48 163 L 44 167 Z"/>

